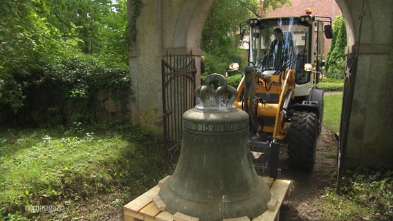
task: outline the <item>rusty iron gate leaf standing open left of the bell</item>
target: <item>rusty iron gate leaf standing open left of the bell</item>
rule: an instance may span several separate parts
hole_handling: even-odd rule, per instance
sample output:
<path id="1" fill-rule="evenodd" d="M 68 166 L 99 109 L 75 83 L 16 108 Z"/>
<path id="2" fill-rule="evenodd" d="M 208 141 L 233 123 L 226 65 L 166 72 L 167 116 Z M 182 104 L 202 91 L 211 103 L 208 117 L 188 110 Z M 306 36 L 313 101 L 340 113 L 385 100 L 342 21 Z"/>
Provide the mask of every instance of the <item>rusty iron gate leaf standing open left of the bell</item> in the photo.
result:
<path id="1" fill-rule="evenodd" d="M 163 123 L 167 166 L 181 148 L 182 116 L 195 106 L 195 58 L 188 55 L 167 55 L 162 60 Z"/>

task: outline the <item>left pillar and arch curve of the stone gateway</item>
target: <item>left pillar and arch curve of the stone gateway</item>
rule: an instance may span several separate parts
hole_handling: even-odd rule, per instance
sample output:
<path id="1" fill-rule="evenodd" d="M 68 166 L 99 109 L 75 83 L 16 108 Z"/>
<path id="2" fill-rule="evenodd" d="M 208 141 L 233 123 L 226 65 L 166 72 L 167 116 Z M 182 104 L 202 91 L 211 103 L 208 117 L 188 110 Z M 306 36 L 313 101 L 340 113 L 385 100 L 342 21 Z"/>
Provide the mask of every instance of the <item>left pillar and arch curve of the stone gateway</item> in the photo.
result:
<path id="1" fill-rule="evenodd" d="M 162 133 L 161 59 L 171 55 L 192 55 L 196 59 L 197 84 L 200 83 L 199 41 L 205 17 L 214 0 L 143 1 L 136 20 L 136 40 L 129 53 L 131 122 Z M 132 1 L 128 1 L 132 8 Z M 129 19 L 132 17 L 129 10 Z"/>

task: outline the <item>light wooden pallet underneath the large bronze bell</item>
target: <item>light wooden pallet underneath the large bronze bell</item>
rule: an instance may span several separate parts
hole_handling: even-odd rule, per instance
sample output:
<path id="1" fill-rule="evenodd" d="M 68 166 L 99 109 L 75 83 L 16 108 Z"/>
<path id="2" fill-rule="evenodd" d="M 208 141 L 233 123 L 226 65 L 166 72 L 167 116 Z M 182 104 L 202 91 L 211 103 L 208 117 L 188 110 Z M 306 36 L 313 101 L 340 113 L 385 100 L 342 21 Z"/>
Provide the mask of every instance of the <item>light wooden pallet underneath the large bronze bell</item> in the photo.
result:
<path id="1" fill-rule="evenodd" d="M 199 221 L 199 218 L 190 217 L 182 213 L 171 214 L 165 211 L 165 203 L 158 196 L 164 177 L 156 186 L 146 191 L 135 200 L 132 200 L 123 207 L 124 221 Z M 290 180 L 274 180 L 271 177 L 260 177 L 271 189 L 271 200 L 268 202 L 268 210 L 262 215 L 253 218 L 253 221 L 278 221 L 280 218 L 280 207 L 284 199 L 289 196 L 291 191 Z M 250 220 L 246 216 L 239 218 L 224 219 L 226 221 Z"/>

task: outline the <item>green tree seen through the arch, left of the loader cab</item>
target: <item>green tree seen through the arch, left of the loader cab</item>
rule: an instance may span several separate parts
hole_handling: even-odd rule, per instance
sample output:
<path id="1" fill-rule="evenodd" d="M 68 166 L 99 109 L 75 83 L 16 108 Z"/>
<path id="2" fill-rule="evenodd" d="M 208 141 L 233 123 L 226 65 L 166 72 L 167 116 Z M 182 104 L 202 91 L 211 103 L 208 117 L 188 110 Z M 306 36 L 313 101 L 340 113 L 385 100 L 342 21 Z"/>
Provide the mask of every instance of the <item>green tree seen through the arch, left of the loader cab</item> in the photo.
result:
<path id="1" fill-rule="evenodd" d="M 228 64 L 246 64 L 245 51 L 239 48 L 239 24 L 251 17 L 290 3 L 290 0 L 217 0 L 203 26 L 201 49 L 207 73 L 225 73 Z"/>

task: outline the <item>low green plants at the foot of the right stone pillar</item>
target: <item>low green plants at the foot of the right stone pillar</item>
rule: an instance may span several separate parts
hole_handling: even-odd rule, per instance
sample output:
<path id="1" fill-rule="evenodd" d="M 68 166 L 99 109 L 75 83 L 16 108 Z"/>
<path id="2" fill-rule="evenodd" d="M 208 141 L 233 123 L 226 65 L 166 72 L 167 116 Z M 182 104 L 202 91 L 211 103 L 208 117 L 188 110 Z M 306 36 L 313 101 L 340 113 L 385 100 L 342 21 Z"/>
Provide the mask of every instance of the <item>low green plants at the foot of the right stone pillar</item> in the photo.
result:
<path id="1" fill-rule="evenodd" d="M 342 176 L 342 194 L 335 186 L 322 195 L 321 220 L 393 220 L 393 171 L 359 166 Z"/>

